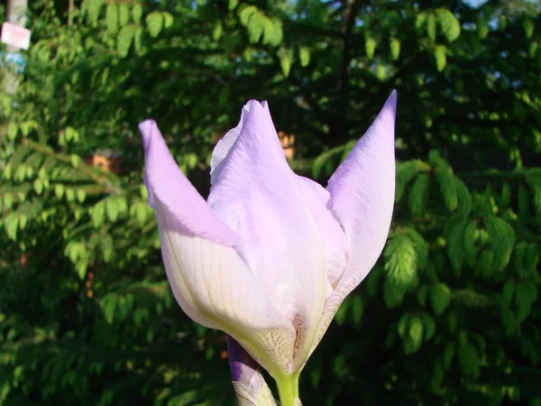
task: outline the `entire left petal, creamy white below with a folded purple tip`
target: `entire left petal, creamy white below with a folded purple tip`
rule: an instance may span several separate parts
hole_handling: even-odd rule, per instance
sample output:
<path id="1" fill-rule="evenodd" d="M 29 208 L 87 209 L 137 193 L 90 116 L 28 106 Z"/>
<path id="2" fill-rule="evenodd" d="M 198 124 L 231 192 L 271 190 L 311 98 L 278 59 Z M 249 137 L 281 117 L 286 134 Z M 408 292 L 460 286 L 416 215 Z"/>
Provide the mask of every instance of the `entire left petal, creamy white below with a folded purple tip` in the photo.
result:
<path id="1" fill-rule="evenodd" d="M 295 329 L 231 245 L 241 239 L 215 215 L 179 171 L 157 125 L 140 125 L 146 183 L 158 219 L 171 290 L 189 318 L 231 335 L 273 372 L 290 362 Z"/>

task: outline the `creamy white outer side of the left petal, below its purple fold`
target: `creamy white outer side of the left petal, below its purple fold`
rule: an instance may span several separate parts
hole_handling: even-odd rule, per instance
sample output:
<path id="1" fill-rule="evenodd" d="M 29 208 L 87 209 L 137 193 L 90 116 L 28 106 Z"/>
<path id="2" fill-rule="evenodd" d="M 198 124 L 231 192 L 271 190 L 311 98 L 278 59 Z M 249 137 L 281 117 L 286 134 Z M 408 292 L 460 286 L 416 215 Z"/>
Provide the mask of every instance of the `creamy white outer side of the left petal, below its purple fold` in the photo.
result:
<path id="1" fill-rule="evenodd" d="M 177 219 L 155 203 L 163 262 L 189 318 L 234 337 L 271 374 L 288 371 L 295 329 L 274 309 L 233 247 L 179 233 Z"/>

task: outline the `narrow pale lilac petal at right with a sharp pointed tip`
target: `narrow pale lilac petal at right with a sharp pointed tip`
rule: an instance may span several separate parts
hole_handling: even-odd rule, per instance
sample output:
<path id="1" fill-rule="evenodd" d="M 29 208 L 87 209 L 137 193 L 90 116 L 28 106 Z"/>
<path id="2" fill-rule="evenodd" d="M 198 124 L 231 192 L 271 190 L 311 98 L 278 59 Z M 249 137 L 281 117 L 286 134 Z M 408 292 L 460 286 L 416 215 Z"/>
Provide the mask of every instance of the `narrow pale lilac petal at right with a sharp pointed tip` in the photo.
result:
<path id="1" fill-rule="evenodd" d="M 350 249 L 344 275 L 326 301 L 316 343 L 344 298 L 371 271 L 387 240 L 395 191 L 396 106 L 393 91 L 370 129 L 329 180 L 327 190 Z"/>

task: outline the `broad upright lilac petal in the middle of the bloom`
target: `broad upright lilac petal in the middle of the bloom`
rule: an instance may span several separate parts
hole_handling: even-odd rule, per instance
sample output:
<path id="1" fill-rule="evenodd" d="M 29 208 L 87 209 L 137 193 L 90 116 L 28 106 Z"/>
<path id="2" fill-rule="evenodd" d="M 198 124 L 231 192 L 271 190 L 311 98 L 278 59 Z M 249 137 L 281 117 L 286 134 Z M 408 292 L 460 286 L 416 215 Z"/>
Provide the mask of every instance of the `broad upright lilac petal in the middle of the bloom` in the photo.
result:
<path id="1" fill-rule="evenodd" d="M 327 284 L 316 220 L 289 169 L 268 106 L 249 102 L 240 128 L 228 137 L 214 152 L 208 203 L 245 241 L 237 251 L 274 308 L 298 330 L 297 358 L 304 358 Z"/>

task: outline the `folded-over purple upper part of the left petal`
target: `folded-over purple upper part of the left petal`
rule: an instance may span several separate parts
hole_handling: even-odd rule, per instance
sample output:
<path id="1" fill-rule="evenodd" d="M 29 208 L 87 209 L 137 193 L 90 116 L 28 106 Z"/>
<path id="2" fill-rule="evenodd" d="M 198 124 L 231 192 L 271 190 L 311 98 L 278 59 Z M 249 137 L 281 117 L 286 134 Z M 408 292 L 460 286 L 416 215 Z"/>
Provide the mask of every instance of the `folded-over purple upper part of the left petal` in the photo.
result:
<path id="1" fill-rule="evenodd" d="M 179 231 L 197 235 L 221 245 L 238 245 L 242 239 L 215 215 L 197 190 L 180 171 L 154 120 L 139 125 L 144 146 L 145 183 L 149 203 L 155 199 L 177 220 Z"/>

